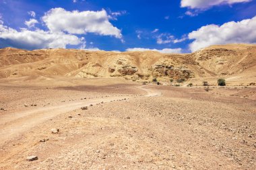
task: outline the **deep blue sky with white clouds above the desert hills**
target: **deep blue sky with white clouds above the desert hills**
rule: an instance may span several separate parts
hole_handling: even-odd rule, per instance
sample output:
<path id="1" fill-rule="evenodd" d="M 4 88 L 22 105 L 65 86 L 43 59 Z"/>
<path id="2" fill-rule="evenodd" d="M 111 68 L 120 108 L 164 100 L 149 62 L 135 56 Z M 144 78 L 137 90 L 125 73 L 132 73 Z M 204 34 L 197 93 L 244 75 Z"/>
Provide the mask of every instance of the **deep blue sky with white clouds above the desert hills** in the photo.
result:
<path id="1" fill-rule="evenodd" d="M 188 53 L 256 44 L 256 0 L 0 0 L 0 48 Z"/>

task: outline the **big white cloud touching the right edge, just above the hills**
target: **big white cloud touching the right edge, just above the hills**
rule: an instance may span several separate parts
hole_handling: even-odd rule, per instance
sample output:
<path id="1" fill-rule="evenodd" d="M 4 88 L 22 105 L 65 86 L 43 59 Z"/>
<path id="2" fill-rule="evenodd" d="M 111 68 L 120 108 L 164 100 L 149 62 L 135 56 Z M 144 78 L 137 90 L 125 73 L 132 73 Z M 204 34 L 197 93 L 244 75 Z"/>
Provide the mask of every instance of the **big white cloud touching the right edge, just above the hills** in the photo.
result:
<path id="1" fill-rule="evenodd" d="M 208 25 L 189 33 L 191 51 L 213 44 L 256 43 L 256 16 L 241 22 L 227 22 L 222 26 Z"/>

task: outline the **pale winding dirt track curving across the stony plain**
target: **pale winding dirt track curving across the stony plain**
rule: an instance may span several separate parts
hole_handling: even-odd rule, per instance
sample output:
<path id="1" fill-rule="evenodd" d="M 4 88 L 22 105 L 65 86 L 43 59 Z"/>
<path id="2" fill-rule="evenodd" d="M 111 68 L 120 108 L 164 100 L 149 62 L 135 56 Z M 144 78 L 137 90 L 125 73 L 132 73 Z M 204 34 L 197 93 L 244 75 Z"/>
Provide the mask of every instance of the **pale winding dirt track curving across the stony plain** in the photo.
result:
<path id="1" fill-rule="evenodd" d="M 159 96 L 161 93 L 154 91 L 152 89 L 147 89 L 147 86 L 139 86 L 138 89 L 141 91 L 146 91 L 146 95 L 144 97 L 154 97 Z M 34 126 L 41 124 L 46 120 L 50 120 L 55 116 L 60 114 L 64 114 L 70 112 L 72 110 L 77 110 L 84 106 L 89 106 L 90 104 L 95 105 L 100 102 L 110 102 L 114 100 L 127 99 L 131 96 L 119 96 L 119 97 L 106 97 L 100 99 L 87 99 L 86 101 L 71 101 L 65 102 L 61 105 L 53 105 L 48 107 L 36 108 L 23 112 L 15 112 L 11 114 L 4 114 L 0 116 L 0 146 L 18 136 L 22 132 L 26 132 L 27 130 L 33 128 Z"/>

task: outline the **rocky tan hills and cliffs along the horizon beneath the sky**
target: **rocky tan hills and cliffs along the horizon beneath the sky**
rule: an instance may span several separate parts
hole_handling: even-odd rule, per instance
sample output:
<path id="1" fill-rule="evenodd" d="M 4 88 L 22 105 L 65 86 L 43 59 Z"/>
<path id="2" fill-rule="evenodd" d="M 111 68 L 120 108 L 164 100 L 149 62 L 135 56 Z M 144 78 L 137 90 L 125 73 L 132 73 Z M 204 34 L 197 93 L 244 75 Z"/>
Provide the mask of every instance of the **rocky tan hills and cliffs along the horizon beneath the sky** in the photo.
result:
<path id="1" fill-rule="evenodd" d="M 30 75 L 124 77 L 133 81 L 191 79 L 243 73 L 256 75 L 256 46 L 211 46 L 192 54 L 158 52 L 90 52 L 42 49 L 0 50 L 0 78 Z"/>

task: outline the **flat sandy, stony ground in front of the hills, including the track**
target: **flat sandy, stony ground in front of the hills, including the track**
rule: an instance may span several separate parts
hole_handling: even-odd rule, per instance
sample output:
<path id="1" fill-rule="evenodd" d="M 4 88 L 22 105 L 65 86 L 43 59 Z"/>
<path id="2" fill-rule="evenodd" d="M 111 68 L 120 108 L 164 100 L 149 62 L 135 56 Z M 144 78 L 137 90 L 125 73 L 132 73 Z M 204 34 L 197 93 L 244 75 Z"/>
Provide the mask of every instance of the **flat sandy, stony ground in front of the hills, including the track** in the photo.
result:
<path id="1" fill-rule="evenodd" d="M 256 169 L 255 95 L 0 81 L 0 169 Z"/>

